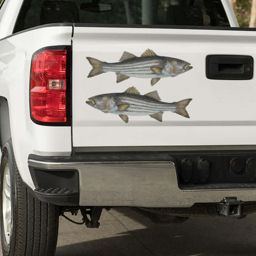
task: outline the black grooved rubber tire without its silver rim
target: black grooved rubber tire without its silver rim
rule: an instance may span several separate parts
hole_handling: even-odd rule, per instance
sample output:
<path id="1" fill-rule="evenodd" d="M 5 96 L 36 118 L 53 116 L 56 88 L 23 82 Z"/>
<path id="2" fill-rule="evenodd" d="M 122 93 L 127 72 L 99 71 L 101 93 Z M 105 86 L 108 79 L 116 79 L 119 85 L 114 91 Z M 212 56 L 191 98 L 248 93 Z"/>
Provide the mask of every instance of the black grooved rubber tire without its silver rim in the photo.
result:
<path id="1" fill-rule="evenodd" d="M 11 152 L 7 146 L 5 154 L 12 159 L 13 170 L 10 171 L 13 171 L 16 199 L 14 242 L 10 243 L 14 250 L 9 250 L 14 254 L 8 252 L 4 256 L 54 256 L 58 236 L 58 206 L 39 201 L 26 188 L 18 172 L 11 140 L 7 143 Z"/>

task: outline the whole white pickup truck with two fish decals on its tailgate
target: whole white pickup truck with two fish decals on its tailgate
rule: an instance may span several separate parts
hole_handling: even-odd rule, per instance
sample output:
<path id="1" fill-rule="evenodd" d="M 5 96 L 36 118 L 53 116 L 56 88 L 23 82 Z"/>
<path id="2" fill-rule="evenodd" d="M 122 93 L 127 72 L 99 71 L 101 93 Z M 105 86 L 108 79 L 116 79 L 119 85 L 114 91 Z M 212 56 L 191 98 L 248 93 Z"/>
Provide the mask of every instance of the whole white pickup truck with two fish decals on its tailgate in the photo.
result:
<path id="1" fill-rule="evenodd" d="M 3 0 L 3 254 L 54 255 L 65 212 L 256 212 L 255 45 L 228 0 Z"/>

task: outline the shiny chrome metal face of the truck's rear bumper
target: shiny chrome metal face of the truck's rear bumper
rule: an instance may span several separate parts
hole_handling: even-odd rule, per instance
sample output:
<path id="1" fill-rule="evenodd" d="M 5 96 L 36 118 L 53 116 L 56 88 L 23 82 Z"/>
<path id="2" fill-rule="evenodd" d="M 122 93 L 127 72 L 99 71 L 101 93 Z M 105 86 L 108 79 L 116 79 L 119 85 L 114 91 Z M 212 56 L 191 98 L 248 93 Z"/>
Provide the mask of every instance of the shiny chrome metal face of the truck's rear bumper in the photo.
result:
<path id="1" fill-rule="evenodd" d="M 34 173 L 77 170 L 80 206 L 191 207 L 195 203 L 221 202 L 226 197 L 256 201 L 254 188 L 180 190 L 175 162 L 169 159 L 84 162 L 31 157 L 28 166 Z"/>

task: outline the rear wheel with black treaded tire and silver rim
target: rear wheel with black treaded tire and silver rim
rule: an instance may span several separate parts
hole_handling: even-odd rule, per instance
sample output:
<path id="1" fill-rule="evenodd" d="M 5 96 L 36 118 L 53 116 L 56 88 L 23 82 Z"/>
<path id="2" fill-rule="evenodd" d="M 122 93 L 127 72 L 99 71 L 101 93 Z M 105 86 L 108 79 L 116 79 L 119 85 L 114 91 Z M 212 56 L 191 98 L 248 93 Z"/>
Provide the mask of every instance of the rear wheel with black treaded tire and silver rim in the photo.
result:
<path id="1" fill-rule="evenodd" d="M 58 237 L 58 206 L 39 201 L 26 188 L 18 173 L 11 140 L 2 152 L 0 176 L 3 255 L 53 256 Z"/>

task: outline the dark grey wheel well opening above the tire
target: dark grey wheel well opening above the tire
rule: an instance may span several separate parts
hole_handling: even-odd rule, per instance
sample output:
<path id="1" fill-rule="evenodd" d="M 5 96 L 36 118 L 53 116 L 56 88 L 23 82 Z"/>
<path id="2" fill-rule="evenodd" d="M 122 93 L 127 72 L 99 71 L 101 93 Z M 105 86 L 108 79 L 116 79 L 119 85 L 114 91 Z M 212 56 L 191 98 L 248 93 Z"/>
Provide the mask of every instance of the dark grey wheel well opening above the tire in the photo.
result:
<path id="1" fill-rule="evenodd" d="M 10 135 L 10 116 L 9 105 L 7 99 L 0 97 L 0 146 L 1 150 L 6 144 L 7 140 L 11 138 Z"/>

